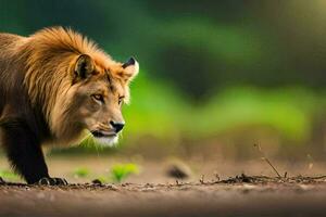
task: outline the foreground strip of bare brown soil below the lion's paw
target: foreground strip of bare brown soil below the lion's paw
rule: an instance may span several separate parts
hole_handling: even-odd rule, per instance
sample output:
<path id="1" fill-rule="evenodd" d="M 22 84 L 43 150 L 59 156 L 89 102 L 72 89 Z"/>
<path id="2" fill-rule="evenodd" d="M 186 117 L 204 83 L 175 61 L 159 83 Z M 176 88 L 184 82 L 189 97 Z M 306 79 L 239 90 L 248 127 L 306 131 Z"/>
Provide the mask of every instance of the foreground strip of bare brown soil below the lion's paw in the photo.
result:
<path id="1" fill-rule="evenodd" d="M 325 203 L 325 176 L 0 186 L 0 216 L 324 216 Z"/>

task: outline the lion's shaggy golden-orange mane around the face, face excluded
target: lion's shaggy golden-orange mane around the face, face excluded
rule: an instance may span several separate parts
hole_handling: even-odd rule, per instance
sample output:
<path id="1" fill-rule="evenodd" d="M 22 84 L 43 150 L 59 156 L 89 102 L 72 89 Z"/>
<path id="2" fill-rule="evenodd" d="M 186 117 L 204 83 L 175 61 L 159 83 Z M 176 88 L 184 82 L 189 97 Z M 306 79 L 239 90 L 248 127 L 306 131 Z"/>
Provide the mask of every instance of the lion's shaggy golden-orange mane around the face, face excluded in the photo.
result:
<path id="1" fill-rule="evenodd" d="M 79 55 L 92 59 L 97 77 L 110 73 L 122 86 L 125 102 L 129 100 L 128 81 L 137 72 L 128 73 L 93 41 L 72 29 L 46 28 L 30 37 L 20 37 L 10 50 L 25 61 L 24 85 L 29 100 L 41 106 L 54 142 L 73 142 L 80 131 L 80 126 L 72 124 L 79 117 L 73 114 L 78 107 L 72 107 L 71 102 L 75 94 L 73 69 Z"/>

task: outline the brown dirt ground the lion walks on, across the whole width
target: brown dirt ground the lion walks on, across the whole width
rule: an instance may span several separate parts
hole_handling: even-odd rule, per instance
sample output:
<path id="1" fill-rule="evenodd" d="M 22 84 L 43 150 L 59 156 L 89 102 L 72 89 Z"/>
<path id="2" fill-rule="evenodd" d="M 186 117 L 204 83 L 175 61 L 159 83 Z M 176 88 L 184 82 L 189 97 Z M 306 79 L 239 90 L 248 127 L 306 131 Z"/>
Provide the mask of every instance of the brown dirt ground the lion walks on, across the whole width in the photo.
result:
<path id="1" fill-rule="evenodd" d="M 120 184 L 91 182 L 116 162 L 134 162 L 141 173 Z M 5 164 L 0 158 L 2 168 Z M 70 184 L 7 181 L 0 184 L 0 216 L 325 216 L 323 163 L 274 161 L 281 175 L 277 178 L 260 159 L 65 156 L 51 157 L 48 164 L 52 176 Z M 189 169 L 188 179 L 168 176 L 172 166 Z M 75 177 L 78 167 L 87 167 L 90 175 Z"/>

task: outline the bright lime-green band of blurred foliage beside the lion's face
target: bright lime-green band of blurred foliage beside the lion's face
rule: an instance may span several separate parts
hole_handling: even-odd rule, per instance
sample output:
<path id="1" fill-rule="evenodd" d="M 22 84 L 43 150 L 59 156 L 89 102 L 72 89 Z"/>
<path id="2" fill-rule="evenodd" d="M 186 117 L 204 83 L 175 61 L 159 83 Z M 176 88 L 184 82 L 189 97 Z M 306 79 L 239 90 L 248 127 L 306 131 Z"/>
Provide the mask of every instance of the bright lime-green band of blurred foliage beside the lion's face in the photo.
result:
<path id="1" fill-rule="evenodd" d="M 180 135 L 199 139 L 237 128 L 266 126 L 284 138 L 305 142 L 314 118 L 323 114 L 326 98 L 302 87 L 264 89 L 233 87 L 209 102 L 193 104 L 176 88 L 149 82 L 140 76 L 133 87 L 133 104 L 125 107 L 129 137 L 150 135 L 176 139 Z M 137 115 L 135 115 L 137 114 Z"/>

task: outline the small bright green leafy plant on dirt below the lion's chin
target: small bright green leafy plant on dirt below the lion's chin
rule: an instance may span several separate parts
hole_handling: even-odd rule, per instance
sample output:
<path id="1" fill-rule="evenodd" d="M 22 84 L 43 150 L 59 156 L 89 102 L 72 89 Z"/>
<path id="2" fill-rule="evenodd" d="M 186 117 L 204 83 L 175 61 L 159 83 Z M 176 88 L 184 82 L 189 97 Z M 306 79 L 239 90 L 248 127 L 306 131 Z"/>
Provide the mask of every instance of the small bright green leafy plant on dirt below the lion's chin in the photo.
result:
<path id="1" fill-rule="evenodd" d="M 139 174 L 139 167 L 136 164 L 115 164 L 110 170 L 112 181 L 118 183 L 133 174 Z"/>

